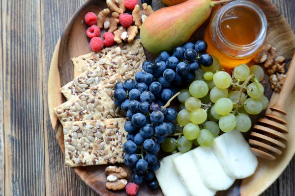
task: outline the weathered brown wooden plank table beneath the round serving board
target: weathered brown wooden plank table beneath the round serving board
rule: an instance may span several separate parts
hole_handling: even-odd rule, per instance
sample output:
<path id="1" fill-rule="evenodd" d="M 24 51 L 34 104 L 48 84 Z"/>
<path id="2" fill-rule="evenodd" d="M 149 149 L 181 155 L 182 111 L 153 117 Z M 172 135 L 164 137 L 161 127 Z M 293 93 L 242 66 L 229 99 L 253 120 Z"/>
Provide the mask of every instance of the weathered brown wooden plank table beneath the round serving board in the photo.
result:
<path id="1" fill-rule="evenodd" d="M 295 1 L 272 0 L 295 29 Z M 51 128 L 47 80 L 55 45 L 83 0 L 0 0 L 0 196 L 93 196 Z M 263 196 L 295 195 L 295 158 Z"/>

